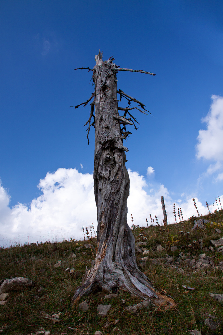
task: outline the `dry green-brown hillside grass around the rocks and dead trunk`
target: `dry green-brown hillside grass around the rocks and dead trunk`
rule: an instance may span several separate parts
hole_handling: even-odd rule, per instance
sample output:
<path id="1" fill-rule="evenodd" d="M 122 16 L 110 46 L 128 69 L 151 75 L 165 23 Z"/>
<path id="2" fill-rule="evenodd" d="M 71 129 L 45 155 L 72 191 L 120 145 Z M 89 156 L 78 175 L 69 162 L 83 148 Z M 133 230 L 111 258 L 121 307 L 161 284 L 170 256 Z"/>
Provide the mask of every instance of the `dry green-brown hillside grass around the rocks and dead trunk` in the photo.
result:
<path id="1" fill-rule="evenodd" d="M 200 330 L 202 334 L 222 334 L 223 304 L 211 298 L 209 292 L 223 293 L 223 273 L 215 267 L 206 272 L 195 272 L 186 261 L 188 257 L 195 257 L 197 260 L 201 253 L 211 256 L 215 266 L 223 260 L 221 253 L 208 249 L 211 246 L 210 240 L 219 239 L 223 234 L 217 233 L 212 226 L 193 231 L 194 219 L 199 218 L 201 217 L 193 217 L 168 227 L 133 227 L 136 243 L 146 240 L 147 245 L 143 247 L 149 250 L 148 261 L 141 270 L 159 291 L 171 295 L 177 304 L 176 308 L 167 311 L 154 308 L 131 314 L 125 308 L 140 300 L 123 291 L 118 291 L 118 298 L 109 301 L 104 299 L 107 292 L 103 291 L 83 297 L 80 303 L 88 300 L 90 308 L 87 312 L 80 311 L 78 306 L 71 309 L 70 302 L 75 288 L 80 284 L 86 266 L 90 267 L 94 259 L 94 249 L 84 247 L 86 241 L 73 240 L 1 249 L 0 279 L 22 276 L 32 279 L 35 287 L 32 290 L 10 292 L 8 302 L 0 306 L 0 330 L 3 330 L 3 334 L 13 335 L 35 334 L 41 327 L 50 331 L 51 335 L 90 335 L 97 330 L 101 330 L 103 334 L 167 335 L 189 334 L 193 329 Z M 202 218 L 221 223 L 223 211 L 218 210 Z M 91 244 L 96 247 L 96 239 L 92 239 Z M 165 248 L 161 253 L 156 251 L 160 244 Z M 82 249 L 77 250 L 80 246 Z M 171 246 L 177 246 L 178 250 L 172 252 Z M 178 261 L 181 252 L 186 256 L 180 259 L 178 266 L 183 269 L 183 273 L 165 267 L 162 262 L 160 265 L 151 262 L 153 258 L 165 258 L 166 254 Z M 76 254 L 77 260 L 69 258 L 71 253 Z M 136 255 L 141 266 L 142 254 L 137 252 Z M 36 256 L 35 261 L 30 260 L 33 256 Z M 58 260 L 62 260 L 62 265 L 54 268 L 53 265 Z M 75 272 L 66 272 L 68 267 L 74 268 Z M 194 287 L 195 290 L 185 289 L 182 285 Z M 98 304 L 111 304 L 106 317 L 97 316 Z M 41 314 L 43 311 L 49 315 L 63 313 L 61 321 L 53 324 L 44 318 Z M 205 314 L 215 316 L 217 330 L 212 331 L 205 325 Z M 119 321 L 116 323 L 116 320 Z M 104 328 L 107 321 L 110 326 Z"/>

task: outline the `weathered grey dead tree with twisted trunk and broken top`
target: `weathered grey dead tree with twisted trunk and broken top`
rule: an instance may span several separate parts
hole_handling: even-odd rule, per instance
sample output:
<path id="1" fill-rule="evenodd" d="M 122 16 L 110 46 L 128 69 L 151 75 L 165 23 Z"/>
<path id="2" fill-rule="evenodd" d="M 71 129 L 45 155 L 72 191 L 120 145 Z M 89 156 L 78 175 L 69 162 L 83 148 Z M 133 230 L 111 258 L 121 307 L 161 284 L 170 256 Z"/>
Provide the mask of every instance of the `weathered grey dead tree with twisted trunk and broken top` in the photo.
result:
<path id="1" fill-rule="evenodd" d="M 123 139 L 129 131 L 126 125 L 136 128 L 135 117 L 130 114 L 133 109 L 146 114 L 145 105 L 130 95 L 117 90 L 118 71 L 142 72 L 142 70 L 122 69 L 113 63 L 114 58 L 102 61 L 102 53 L 95 56 L 96 65 L 93 71 L 95 91 L 83 104 L 91 103 L 88 133 L 95 127 L 94 154 L 94 193 L 97 205 L 97 252 L 95 265 L 87 269 L 72 299 L 72 305 L 84 294 L 103 289 L 106 291 L 120 288 L 133 295 L 147 298 L 155 305 L 174 306 L 171 298 L 160 294 L 150 280 L 136 264 L 135 239 L 127 224 L 127 198 L 129 196 L 129 176 L 125 167 Z M 81 68 L 84 69 L 84 68 Z M 117 93 L 120 98 L 117 99 Z M 128 107 L 118 107 L 118 101 L 124 97 Z M 135 102 L 139 107 L 130 107 Z M 80 105 L 71 106 L 78 108 Z M 95 114 L 94 114 L 95 108 Z M 119 115 L 122 111 L 123 115 Z M 89 141 L 89 140 L 88 140 Z"/>

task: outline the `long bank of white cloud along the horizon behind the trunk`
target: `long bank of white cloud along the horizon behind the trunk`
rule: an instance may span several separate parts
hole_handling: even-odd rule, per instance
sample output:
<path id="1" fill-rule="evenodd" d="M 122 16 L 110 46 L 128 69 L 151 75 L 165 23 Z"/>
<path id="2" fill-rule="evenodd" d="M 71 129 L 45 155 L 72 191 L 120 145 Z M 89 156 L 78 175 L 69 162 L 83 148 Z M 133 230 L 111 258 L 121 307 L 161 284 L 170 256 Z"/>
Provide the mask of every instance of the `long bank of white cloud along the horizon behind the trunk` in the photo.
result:
<path id="1" fill-rule="evenodd" d="M 173 203 L 182 208 L 184 219 L 196 214 L 193 200 L 174 201 L 166 187 L 153 185 L 148 188 L 143 176 L 128 170 L 130 177 L 130 196 L 128 198 L 127 222 L 131 226 L 131 214 L 134 224 L 146 225 L 149 214 L 156 215 L 162 223 L 163 214 L 160 196 L 164 196 L 169 223 L 174 223 Z M 18 203 L 9 207 L 10 196 L 0 186 L 0 245 L 10 245 L 27 241 L 61 241 L 63 238 L 83 238 L 82 226 L 97 228 L 97 210 L 94 199 L 93 174 L 82 174 L 76 169 L 60 168 L 47 173 L 41 179 L 38 188 L 42 194 L 33 199 L 30 207 Z M 207 213 L 195 198 L 200 213 Z M 223 196 L 221 196 L 223 202 Z M 214 208 L 215 209 L 215 208 Z M 178 219 L 179 221 L 179 219 Z M 10 232 L 10 233 L 9 233 Z"/>

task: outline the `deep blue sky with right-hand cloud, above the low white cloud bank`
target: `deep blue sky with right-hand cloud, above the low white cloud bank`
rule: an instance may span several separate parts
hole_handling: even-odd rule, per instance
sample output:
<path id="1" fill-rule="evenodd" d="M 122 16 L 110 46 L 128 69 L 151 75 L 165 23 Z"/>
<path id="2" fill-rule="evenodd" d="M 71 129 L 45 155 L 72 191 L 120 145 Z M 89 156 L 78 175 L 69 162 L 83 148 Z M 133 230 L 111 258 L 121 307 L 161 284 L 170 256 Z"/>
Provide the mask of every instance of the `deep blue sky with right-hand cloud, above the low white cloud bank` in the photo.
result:
<path id="1" fill-rule="evenodd" d="M 74 69 L 93 68 L 99 49 L 104 60 L 114 55 L 120 67 L 156 74 L 118 73 L 118 88 L 151 113 L 135 112 L 139 129 L 124 144 L 127 168 L 143 176 L 141 189 L 151 195 L 163 185 L 170 202 L 182 204 L 221 196 L 222 18 L 222 1 L 1 0 L 4 213 L 13 206 L 30 210 L 47 172 L 92 174 L 94 132 L 88 145 L 83 128 L 90 108 L 70 106 L 94 91 L 92 73 Z M 149 166 L 154 172 L 146 174 Z"/>

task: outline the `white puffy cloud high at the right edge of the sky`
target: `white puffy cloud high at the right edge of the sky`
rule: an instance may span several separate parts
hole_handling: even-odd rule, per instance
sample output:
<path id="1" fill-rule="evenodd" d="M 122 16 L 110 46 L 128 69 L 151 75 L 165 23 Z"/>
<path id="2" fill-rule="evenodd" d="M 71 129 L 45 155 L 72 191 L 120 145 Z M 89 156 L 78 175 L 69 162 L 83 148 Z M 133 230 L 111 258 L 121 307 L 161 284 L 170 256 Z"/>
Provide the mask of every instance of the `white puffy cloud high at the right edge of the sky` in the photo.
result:
<path id="1" fill-rule="evenodd" d="M 223 169 L 223 97 L 212 95 L 210 111 L 202 122 L 206 123 L 206 130 L 199 130 L 197 158 L 212 160 L 207 174 L 211 175 L 219 171 L 216 180 L 222 180 Z"/>

